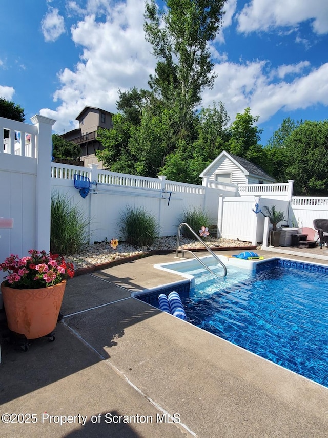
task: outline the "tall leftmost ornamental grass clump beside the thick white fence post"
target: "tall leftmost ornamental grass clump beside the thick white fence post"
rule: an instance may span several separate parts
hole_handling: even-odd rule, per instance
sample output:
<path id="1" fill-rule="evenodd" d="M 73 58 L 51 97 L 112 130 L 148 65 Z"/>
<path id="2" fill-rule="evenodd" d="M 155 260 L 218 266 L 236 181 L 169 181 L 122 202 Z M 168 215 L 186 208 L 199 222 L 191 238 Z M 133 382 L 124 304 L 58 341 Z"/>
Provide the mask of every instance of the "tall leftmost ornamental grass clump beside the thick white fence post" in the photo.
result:
<path id="1" fill-rule="evenodd" d="M 68 255 L 79 252 L 89 241 L 90 220 L 65 195 L 51 195 L 50 251 Z"/>

